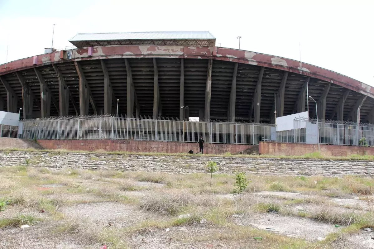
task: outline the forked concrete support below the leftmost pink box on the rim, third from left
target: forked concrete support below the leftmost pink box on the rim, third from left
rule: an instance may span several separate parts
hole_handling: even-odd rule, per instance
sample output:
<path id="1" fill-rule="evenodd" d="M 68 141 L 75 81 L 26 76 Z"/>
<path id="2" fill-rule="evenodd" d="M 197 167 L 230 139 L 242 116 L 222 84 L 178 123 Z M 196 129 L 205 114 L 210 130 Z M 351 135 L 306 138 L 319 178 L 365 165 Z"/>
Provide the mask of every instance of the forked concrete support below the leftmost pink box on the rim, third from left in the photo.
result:
<path id="1" fill-rule="evenodd" d="M 39 80 L 40 84 L 40 109 L 41 109 L 41 117 L 46 118 L 50 116 L 50 104 L 51 101 L 55 106 L 57 112 L 59 112 L 59 105 L 55 97 L 52 96 L 52 92 L 50 91 L 47 83 L 45 82 L 44 77 L 40 73 L 39 69 L 34 68 L 35 74 L 37 79 Z"/>

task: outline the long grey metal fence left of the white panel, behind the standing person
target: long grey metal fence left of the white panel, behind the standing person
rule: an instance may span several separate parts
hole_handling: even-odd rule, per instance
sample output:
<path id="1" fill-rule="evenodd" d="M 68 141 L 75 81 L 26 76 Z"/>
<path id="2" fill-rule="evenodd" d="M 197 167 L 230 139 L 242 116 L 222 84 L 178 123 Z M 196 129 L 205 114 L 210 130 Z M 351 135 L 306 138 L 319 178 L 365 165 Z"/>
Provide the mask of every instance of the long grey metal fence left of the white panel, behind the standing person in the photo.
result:
<path id="1" fill-rule="evenodd" d="M 258 144 L 270 139 L 273 124 L 187 122 L 116 118 L 108 115 L 25 120 L 22 139 L 129 139 L 148 141 Z"/>

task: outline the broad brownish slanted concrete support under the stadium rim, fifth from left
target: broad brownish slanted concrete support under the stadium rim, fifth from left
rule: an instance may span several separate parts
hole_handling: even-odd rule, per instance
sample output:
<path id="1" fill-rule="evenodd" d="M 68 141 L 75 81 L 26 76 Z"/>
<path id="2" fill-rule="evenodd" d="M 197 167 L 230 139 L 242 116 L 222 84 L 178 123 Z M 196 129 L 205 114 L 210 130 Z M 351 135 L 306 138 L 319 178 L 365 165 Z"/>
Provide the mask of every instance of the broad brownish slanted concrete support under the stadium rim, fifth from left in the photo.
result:
<path id="1" fill-rule="evenodd" d="M 93 99 L 90 87 L 88 86 L 85 74 L 83 73 L 82 67 L 78 61 L 74 61 L 75 68 L 79 77 L 79 111 L 80 116 L 87 115 L 89 109 L 89 103 L 93 108 L 93 114 L 97 115 L 96 104 Z"/>

